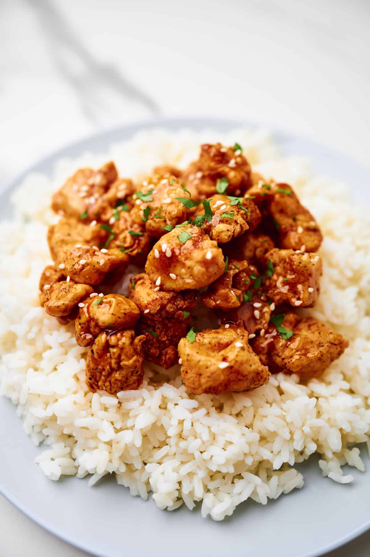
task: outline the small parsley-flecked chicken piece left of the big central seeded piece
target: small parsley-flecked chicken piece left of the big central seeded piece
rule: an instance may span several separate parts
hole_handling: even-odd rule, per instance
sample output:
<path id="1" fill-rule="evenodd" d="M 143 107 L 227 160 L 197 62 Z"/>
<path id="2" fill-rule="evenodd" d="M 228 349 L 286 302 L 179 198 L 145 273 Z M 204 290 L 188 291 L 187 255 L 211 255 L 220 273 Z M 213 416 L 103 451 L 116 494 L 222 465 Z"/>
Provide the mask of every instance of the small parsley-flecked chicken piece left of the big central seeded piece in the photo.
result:
<path id="1" fill-rule="evenodd" d="M 144 223 L 137 223 L 132 214 L 126 211 L 119 213 L 119 219 L 115 221 L 111 232 L 112 240 L 108 243 L 109 248 L 119 248 L 127 253 L 135 263 L 146 261 L 146 256 L 151 247 L 151 238 L 145 230 Z"/>

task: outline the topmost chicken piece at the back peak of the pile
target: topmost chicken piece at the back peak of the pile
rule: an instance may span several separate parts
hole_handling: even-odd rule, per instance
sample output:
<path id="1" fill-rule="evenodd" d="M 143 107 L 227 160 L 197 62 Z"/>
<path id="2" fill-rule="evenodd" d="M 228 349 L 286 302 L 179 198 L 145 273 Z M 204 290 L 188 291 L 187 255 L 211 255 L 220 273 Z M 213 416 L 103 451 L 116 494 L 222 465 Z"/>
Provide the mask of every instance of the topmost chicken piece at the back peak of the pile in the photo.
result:
<path id="1" fill-rule="evenodd" d="M 227 181 L 228 196 L 243 195 L 250 188 L 250 166 L 240 150 L 224 147 L 221 143 L 203 144 L 199 159 L 190 163 L 182 174 L 182 180 L 189 189 L 191 197 L 197 201 L 211 197 L 217 192 L 218 180 Z"/>

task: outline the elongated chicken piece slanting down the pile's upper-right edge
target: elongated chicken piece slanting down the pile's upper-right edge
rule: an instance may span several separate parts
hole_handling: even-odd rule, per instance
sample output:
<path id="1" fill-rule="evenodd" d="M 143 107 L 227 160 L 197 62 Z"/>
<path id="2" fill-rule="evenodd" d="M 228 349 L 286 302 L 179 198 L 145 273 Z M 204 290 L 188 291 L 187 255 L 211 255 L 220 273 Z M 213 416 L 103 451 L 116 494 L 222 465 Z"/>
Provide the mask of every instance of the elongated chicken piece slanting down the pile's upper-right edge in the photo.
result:
<path id="1" fill-rule="evenodd" d="M 288 184 L 262 184 L 249 189 L 263 214 L 263 224 L 279 238 L 278 247 L 315 252 L 323 240 L 322 233 L 312 214 L 300 204 Z"/>

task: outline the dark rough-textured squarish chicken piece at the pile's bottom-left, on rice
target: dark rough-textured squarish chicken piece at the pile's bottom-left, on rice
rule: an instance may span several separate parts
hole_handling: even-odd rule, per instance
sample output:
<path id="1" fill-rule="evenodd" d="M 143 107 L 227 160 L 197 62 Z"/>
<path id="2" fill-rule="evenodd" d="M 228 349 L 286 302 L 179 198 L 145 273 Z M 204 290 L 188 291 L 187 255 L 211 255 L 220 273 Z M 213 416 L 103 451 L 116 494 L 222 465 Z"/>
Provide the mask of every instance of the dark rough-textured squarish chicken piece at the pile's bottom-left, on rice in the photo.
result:
<path id="1" fill-rule="evenodd" d="M 100 333 L 86 359 L 86 384 L 91 392 L 100 389 L 117 394 L 139 389 L 144 378 L 144 341 L 145 336 L 135 336 L 132 329 Z"/>

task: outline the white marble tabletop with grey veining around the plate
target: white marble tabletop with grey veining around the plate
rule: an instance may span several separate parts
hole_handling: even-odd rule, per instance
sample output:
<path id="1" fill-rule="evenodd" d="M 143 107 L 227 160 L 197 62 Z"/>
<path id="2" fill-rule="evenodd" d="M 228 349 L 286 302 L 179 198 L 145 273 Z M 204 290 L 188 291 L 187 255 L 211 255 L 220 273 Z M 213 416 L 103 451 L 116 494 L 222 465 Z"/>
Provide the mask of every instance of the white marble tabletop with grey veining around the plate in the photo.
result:
<path id="1" fill-rule="evenodd" d="M 160 114 L 262 121 L 370 166 L 369 24 L 367 0 L 0 0 L 0 182 Z M 4 499 L 0 525 L 1 557 L 86 555 Z M 369 554 L 365 534 L 330 557 Z"/>

